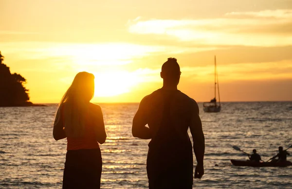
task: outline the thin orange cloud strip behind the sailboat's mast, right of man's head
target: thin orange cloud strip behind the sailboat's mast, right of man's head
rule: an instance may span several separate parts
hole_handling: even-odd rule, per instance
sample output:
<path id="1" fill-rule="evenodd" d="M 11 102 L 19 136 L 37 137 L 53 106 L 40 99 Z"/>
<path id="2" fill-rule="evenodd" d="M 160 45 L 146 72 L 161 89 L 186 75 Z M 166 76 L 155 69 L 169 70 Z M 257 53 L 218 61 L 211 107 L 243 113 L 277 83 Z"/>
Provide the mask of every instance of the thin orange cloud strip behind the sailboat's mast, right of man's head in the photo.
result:
<path id="1" fill-rule="evenodd" d="M 292 60 L 281 62 L 239 63 L 218 66 L 219 81 L 292 79 Z M 182 77 L 212 82 L 214 66 L 183 67 Z"/>

